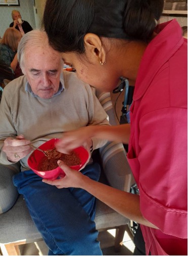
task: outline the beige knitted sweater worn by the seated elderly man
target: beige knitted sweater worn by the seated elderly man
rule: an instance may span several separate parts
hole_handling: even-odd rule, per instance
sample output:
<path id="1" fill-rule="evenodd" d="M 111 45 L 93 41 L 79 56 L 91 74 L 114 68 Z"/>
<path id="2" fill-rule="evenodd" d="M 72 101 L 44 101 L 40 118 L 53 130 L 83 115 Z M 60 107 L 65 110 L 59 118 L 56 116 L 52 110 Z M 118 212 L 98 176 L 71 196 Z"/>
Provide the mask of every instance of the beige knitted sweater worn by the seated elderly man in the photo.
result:
<path id="1" fill-rule="evenodd" d="M 14 79 L 4 89 L 0 105 L 0 163 L 11 164 L 3 152 L 4 140 L 24 135 L 38 147 L 65 131 L 86 125 L 109 125 L 108 116 L 88 84 L 73 72 L 63 72 L 64 90 L 51 99 L 34 97 L 25 91 L 26 76 Z M 93 138 L 92 138 L 93 139 Z M 93 139 L 93 149 L 106 141 Z M 29 169 L 27 157 L 20 160 L 21 169 Z"/>

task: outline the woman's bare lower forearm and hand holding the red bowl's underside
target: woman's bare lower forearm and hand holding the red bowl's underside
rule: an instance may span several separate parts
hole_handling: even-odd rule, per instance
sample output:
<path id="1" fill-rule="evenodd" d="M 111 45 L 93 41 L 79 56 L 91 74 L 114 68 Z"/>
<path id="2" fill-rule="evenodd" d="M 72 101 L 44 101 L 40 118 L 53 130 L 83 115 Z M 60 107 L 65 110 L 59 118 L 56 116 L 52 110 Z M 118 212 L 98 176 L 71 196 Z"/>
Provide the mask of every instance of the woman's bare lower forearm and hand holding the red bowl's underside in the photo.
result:
<path id="1" fill-rule="evenodd" d="M 55 181 L 42 180 L 43 182 L 54 185 L 57 188 L 82 188 L 126 218 L 145 226 L 157 228 L 142 216 L 139 208 L 139 195 L 127 193 L 100 182 L 93 181 L 80 172 L 72 170 L 62 161 L 58 161 L 58 164 L 64 170 L 66 176 Z"/>

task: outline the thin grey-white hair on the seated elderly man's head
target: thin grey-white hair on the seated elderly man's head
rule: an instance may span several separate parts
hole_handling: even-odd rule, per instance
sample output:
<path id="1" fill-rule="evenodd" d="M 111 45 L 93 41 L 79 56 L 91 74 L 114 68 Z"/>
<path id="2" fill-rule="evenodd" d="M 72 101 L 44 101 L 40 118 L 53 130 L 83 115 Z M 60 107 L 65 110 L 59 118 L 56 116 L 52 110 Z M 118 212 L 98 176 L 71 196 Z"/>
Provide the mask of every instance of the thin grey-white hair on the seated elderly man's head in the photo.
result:
<path id="1" fill-rule="evenodd" d="M 37 47 L 50 47 L 49 39 L 45 31 L 33 29 L 24 34 L 18 45 L 18 61 L 23 73 L 25 73 L 24 66 L 26 49 L 33 51 L 33 49 Z"/>

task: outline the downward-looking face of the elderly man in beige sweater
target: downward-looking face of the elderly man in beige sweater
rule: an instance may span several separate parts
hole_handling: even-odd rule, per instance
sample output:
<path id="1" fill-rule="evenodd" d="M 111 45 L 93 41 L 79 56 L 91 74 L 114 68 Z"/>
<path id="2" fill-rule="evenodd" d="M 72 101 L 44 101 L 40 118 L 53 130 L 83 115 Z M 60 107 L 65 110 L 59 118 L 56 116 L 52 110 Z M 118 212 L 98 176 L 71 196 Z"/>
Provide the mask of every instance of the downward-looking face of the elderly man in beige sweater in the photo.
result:
<path id="1" fill-rule="evenodd" d="M 50 99 L 58 92 L 62 70 L 61 56 L 49 47 L 31 47 L 25 50 L 24 74 L 32 92 Z"/>

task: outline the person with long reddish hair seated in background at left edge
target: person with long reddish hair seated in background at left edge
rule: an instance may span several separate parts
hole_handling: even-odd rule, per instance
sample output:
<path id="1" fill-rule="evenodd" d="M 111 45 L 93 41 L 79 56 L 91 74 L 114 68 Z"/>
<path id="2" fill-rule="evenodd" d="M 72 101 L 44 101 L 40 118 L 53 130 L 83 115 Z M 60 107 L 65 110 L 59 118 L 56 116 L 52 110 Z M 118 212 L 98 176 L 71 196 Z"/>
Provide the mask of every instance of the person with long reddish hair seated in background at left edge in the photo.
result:
<path id="1" fill-rule="evenodd" d="M 0 63 L 10 66 L 14 71 L 14 77 L 23 75 L 17 57 L 18 44 L 21 33 L 15 28 L 7 28 L 0 43 Z"/>

